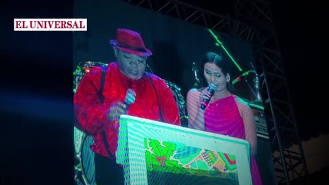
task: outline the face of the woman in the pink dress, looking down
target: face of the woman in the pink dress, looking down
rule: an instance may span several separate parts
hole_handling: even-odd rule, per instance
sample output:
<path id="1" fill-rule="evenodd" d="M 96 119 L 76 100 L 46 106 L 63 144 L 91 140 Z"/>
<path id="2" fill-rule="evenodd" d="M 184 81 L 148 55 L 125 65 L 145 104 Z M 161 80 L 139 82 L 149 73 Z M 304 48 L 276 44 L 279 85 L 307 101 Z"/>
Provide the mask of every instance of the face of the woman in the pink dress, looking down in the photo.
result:
<path id="1" fill-rule="evenodd" d="M 228 74 L 224 74 L 221 69 L 210 62 L 204 64 L 204 77 L 208 84 L 214 84 L 217 86 L 217 91 L 226 90 L 226 82 L 229 79 Z"/>

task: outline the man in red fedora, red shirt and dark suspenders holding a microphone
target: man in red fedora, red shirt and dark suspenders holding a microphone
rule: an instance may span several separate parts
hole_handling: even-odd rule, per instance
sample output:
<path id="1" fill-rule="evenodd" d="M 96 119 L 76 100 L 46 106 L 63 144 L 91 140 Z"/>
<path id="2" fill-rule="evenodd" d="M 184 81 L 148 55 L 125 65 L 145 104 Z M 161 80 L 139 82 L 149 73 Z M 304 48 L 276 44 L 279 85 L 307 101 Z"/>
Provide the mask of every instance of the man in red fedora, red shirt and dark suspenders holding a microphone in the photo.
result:
<path id="1" fill-rule="evenodd" d="M 121 114 L 181 125 L 177 103 L 167 84 L 145 72 L 147 57 L 152 53 L 141 34 L 118 29 L 117 39 L 110 43 L 117 62 L 106 69 L 95 67 L 84 75 L 74 97 L 76 126 L 95 141 L 91 149 L 95 152 L 97 185 L 123 184 L 123 169 L 115 162 Z"/>

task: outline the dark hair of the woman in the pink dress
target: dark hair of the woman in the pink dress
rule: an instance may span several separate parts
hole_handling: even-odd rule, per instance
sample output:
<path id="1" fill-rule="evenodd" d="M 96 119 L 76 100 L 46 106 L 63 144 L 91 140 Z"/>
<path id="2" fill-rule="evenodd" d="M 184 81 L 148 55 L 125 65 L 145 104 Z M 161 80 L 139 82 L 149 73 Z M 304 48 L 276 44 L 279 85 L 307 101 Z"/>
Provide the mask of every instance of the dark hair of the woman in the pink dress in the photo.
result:
<path id="1" fill-rule="evenodd" d="M 230 75 L 230 77 L 232 77 L 230 74 L 230 70 L 232 68 L 232 64 L 230 63 L 230 61 L 228 61 L 227 59 L 224 59 L 221 54 L 219 55 L 217 53 L 208 51 L 202 58 L 201 66 L 199 68 L 199 69 L 201 69 L 200 75 L 202 76 L 200 86 L 202 86 L 203 88 L 208 86 L 206 77 L 204 77 L 204 64 L 206 64 L 206 63 L 215 64 L 216 66 L 218 66 L 221 69 L 221 72 L 223 72 L 224 75 L 226 75 L 228 73 Z M 230 93 L 234 93 L 234 88 L 233 88 L 231 80 L 226 83 L 226 87 L 228 88 Z"/>

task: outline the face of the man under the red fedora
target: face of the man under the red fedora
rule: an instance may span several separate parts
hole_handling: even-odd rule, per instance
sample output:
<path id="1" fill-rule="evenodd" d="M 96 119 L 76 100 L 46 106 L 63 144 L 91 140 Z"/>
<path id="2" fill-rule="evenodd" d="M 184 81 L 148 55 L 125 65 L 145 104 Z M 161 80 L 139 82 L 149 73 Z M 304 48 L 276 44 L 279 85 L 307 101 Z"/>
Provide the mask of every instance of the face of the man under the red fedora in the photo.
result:
<path id="1" fill-rule="evenodd" d="M 146 58 L 114 49 L 120 71 L 131 79 L 140 79 L 146 66 Z"/>

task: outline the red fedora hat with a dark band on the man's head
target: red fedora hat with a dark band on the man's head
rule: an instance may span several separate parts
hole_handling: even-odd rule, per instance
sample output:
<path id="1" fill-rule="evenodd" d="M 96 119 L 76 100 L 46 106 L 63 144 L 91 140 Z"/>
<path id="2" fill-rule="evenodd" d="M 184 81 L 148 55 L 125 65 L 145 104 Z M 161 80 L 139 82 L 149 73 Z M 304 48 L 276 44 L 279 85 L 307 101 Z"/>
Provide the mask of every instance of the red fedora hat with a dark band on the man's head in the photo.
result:
<path id="1" fill-rule="evenodd" d="M 152 55 L 152 52 L 145 47 L 141 34 L 130 29 L 117 29 L 117 38 L 116 40 L 110 40 L 110 43 L 122 51 L 137 56 Z"/>

